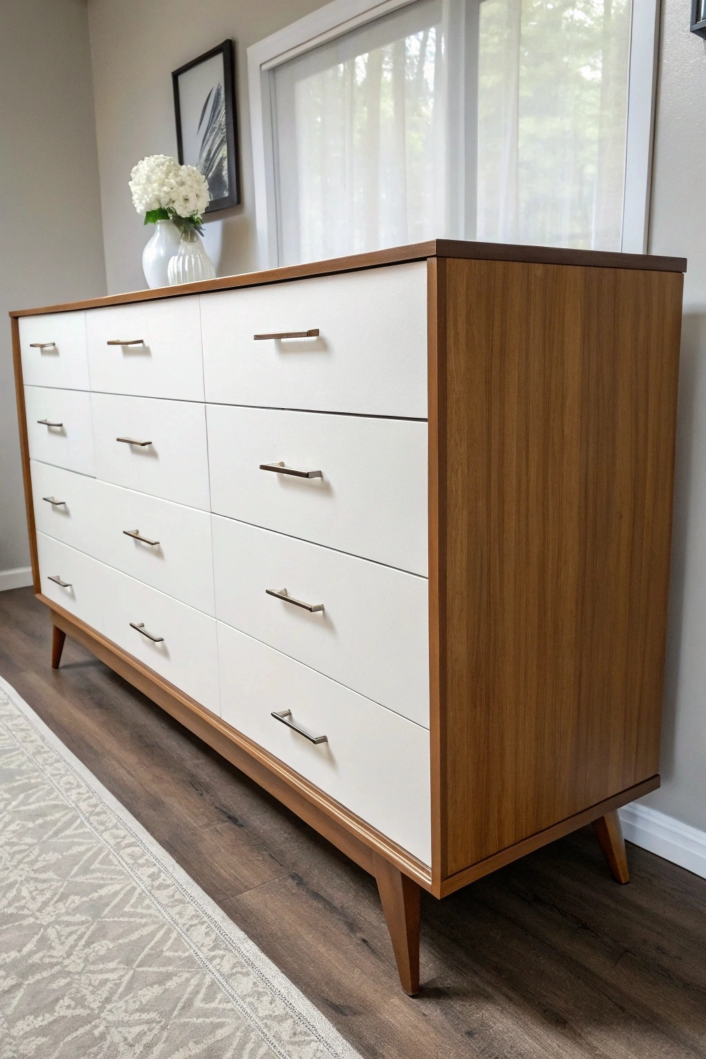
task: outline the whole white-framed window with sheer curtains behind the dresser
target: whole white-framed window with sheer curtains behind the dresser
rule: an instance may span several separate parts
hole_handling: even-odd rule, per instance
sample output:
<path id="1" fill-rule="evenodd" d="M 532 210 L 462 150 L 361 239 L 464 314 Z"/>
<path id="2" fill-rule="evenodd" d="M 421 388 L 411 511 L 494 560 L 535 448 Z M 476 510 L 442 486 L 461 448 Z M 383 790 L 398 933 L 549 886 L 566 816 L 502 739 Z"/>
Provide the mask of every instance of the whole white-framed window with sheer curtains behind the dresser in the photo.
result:
<path id="1" fill-rule="evenodd" d="M 334 0 L 249 49 L 263 266 L 434 236 L 642 251 L 656 0 L 632 7 Z"/>

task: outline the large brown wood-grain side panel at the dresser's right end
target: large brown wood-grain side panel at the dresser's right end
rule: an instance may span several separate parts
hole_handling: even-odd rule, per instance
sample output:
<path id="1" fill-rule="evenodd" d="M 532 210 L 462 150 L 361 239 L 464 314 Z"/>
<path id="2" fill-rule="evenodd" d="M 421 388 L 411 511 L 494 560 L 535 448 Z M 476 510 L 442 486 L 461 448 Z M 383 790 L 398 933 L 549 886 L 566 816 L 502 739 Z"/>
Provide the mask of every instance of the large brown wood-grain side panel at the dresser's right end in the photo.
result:
<path id="1" fill-rule="evenodd" d="M 446 270 L 454 875 L 658 771 L 682 276 Z"/>

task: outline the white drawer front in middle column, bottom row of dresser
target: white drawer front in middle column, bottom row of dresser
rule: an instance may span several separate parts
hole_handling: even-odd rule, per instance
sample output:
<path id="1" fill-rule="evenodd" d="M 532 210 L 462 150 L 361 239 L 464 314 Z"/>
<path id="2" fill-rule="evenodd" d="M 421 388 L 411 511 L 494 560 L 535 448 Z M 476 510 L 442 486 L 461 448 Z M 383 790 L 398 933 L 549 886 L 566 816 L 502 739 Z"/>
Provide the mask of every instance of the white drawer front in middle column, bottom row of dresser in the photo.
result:
<path id="1" fill-rule="evenodd" d="M 103 608 L 106 636 L 207 710 L 219 713 L 214 618 L 117 570 L 103 569 L 108 584 Z M 146 632 L 158 638 L 157 642 Z"/>

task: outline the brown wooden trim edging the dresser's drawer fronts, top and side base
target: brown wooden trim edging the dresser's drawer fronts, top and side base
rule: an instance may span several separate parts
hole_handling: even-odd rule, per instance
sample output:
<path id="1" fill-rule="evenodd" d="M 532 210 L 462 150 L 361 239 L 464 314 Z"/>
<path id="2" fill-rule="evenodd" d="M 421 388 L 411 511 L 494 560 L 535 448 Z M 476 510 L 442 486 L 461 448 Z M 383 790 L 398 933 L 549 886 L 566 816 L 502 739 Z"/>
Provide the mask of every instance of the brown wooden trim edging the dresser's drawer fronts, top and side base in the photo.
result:
<path id="1" fill-rule="evenodd" d="M 593 823 L 607 813 L 627 805 L 635 798 L 655 790 L 659 776 L 653 775 L 641 783 L 627 788 L 611 797 L 585 808 L 575 815 L 555 823 L 550 827 L 528 836 L 507 846 L 492 856 L 481 860 L 463 870 L 449 876 L 442 858 L 441 837 L 446 833 L 447 797 L 442 796 L 441 784 L 446 775 L 442 754 L 446 746 L 442 725 L 446 711 L 440 708 L 446 692 L 441 681 L 446 679 L 440 660 L 443 657 L 446 630 L 446 584 L 440 572 L 446 567 L 442 554 L 446 541 L 443 524 L 446 511 L 446 257 L 479 258 L 484 261 L 522 261 L 547 264 L 600 265 L 607 268 L 636 268 L 659 271 L 682 272 L 686 262 L 682 258 L 646 257 L 642 255 L 611 254 L 589 251 L 557 251 L 551 248 L 505 247 L 502 245 L 461 244 L 450 240 L 434 240 L 412 247 L 359 254 L 336 262 L 315 263 L 312 266 L 279 268 L 269 272 L 256 272 L 243 276 L 229 276 L 203 284 L 187 284 L 180 287 L 153 291 L 133 291 L 127 294 L 93 299 L 86 302 L 52 306 L 49 308 L 16 310 L 10 313 L 13 340 L 13 360 L 17 396 L 18 426 L 22 478 L 24 484 L 28 531 L 34 591 L 36 597 L 46 604 L 51 612 L 55 628 L 90 650 L 97 659 L 164 708 L 180 723 L 216 750 L 232 765 L 269 791 L 291 811 L 313 827 L 347 857 L 366 872 L 376 875 L 375 858 L 382 857 L 398 870 L 414 880 L 437 898 L 468 885 L 520 857 L 538 849 L 577 828 Z M 164 680 L 147 666 L 128 654 L 117 645 L 86 625 L 79 618 L 62 610 L 54 600 L 41 593 L 39 563 L 37 555 L 36 526 L 34 519 L 30 451 L 26 429 L 24 387 L 22 378 L 19 317 L 47 312 L 73 311 L 103 305 L 127 304 L 164 298 L 184 297 L 211 290 L 232 289 L 245 286 L 265 285 L 298 279 L 375 268 L 401 262 L 427 259 L 429 284 L 429 534 L 430 534 L 430 677 L 431 677 L 431 810 L 432 810 L 432 869 L 402 849 L 392 840 L 351 813 L 340 803 L 326 795 L 307 779 L 294 772 L 278 758 L 263 750 L 247 736 L 237 732 L 220 717 L 206 711 L 194 699 L 175 685 Z M 441 373 L 441 374 L 439 374 Z"/>

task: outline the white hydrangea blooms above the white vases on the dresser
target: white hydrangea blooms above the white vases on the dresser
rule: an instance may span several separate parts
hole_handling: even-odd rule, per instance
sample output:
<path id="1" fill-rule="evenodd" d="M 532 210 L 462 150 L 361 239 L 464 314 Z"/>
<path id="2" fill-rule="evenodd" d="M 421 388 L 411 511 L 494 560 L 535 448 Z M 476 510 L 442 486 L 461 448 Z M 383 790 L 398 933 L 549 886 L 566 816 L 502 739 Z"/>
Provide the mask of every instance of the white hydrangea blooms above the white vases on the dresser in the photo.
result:
<path id="1" fill-rule="evenodd" d="M 195 165 L 180 165 L 168 155 L 149 155 L 130 174 L 134 209 L 145 215 L 145 225 L 171 220 L 182 231 L 201 234 L 201 214 L 211 201 L 209 182 Z"/>

